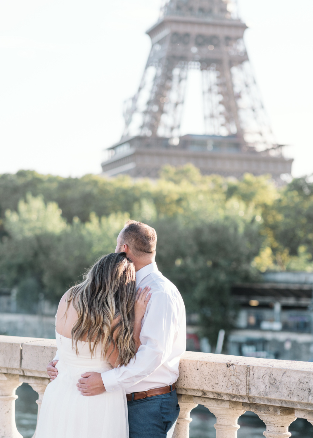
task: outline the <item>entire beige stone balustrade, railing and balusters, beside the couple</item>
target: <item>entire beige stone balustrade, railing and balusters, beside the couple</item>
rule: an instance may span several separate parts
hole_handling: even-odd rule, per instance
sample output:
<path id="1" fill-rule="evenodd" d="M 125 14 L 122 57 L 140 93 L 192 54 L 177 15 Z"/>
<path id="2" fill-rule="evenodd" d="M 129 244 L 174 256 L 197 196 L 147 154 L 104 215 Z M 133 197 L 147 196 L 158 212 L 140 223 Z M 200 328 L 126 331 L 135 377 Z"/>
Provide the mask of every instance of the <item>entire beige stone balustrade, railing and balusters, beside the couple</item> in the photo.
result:
<path id="1" fill-rule="evenodd" d="M 38 392 L 38 412 L 49 378 L 54 339 L 0 336 L 0 438 L 21 438 L 15 426 L 15 390 L 23 382 Z M 255 412 L 268 438 L 291 436 L 297 417 L 313 424 L 313 364 L 186 352 L 177 381 L 180 414 L 173 438 L 188 438 L 190 412 L 198 404 L 216 417 L 217 438 L 236 438 L 238 418 Z M 34 436 L 36 435 L 36 432 Z"/>

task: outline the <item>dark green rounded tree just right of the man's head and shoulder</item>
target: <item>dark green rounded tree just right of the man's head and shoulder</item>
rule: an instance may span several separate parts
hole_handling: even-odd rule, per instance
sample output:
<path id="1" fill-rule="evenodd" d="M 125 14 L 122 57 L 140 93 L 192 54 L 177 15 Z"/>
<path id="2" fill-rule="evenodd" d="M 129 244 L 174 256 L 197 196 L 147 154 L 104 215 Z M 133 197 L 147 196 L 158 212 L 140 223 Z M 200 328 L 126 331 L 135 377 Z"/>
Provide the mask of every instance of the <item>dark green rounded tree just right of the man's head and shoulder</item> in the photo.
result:
<path id="1" fill-rule="evenodd" d="M 187 311 L 200 312 L 203 334 L 216 342 L 219 329 L 234 322 L 231 285 L 258 278 L 251 268 L 262 242 L 258 226 L 239 227 L 233 219 L 188 228 L 173 219 L 154 225 L 162 230 L 159 269 L 178 286 Z"/>

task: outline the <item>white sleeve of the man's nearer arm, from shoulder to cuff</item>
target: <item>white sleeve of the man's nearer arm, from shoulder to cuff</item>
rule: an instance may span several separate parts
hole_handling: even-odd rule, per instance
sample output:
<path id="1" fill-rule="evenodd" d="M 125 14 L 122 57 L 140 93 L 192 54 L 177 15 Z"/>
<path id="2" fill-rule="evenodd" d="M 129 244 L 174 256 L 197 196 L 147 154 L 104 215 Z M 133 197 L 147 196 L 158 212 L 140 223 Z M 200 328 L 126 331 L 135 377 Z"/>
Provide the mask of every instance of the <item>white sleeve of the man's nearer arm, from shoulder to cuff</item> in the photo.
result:
<path id="1" fill-rule="evenodd" d="M 155 292 L 149 305 L 140 332 L 142 345 L 136 356 L 128 365 L 101 374 L 108 392 L 135 385 L 152 374 L 171 355 L 178 326 L 177 304 L 167 293 Z"/>

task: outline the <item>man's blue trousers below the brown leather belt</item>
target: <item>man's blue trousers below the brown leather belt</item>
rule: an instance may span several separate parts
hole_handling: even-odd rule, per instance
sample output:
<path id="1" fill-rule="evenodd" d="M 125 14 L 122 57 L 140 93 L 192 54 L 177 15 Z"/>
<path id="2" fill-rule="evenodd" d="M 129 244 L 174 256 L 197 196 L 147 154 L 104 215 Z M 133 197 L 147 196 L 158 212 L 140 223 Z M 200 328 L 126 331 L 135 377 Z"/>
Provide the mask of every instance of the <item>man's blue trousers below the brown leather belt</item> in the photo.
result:
<path id="1" fill-rule="evenodd" d="M 127 402 L 129 438 L 166 438 L 178 418 L 176 391 Z"/>

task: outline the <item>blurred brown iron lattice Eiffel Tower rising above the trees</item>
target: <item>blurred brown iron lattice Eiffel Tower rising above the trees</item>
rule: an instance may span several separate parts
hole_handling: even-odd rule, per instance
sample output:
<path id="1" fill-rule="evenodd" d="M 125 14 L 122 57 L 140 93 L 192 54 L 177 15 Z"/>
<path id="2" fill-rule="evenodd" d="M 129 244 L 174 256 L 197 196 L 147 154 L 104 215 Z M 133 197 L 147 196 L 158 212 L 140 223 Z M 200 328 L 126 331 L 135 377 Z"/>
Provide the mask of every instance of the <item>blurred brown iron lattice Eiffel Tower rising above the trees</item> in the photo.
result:
<path id="1" fill-rule="evenodd" d="M 152 46 L 125 129 L 102 163 L 107 176 L 156 178 L 164 164 L 192 162 L 203 174 L 290 174 L 253 77 L 231 0 L 169 0 L 146 33 Z M 181 136 L 188 72 L 202 77 L 205 133 Z"/>

